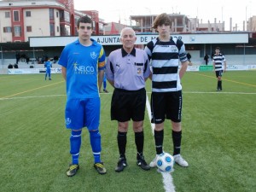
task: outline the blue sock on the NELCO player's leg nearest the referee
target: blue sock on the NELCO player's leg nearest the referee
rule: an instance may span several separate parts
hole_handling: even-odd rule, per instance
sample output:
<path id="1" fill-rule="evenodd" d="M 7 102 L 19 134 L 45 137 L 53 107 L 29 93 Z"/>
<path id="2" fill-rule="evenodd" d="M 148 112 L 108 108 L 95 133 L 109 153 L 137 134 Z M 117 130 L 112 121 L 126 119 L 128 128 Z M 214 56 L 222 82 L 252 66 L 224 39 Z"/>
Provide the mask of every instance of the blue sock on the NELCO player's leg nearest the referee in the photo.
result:
<path id="1" fill-rule="evenodd" d="M 96 131 L 89 131 L 90 132 L 90 146 L 92 148 L 92 153 L 94 156 L 94 162 L 100 163 L 101 162 L 101 134 L 99 130 Z"/>

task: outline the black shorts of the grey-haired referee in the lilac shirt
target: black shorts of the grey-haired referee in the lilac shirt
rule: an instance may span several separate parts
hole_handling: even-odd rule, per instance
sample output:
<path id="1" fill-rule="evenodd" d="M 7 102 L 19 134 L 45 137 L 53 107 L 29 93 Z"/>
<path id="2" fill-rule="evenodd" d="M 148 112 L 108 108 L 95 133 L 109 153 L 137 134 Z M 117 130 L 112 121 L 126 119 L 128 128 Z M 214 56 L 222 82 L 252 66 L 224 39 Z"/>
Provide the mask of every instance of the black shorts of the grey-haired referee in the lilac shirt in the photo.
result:
<path id="1" fill-rule="evenodd" d="M 111 120 L 125 122 L 144 120 L 146 90 L 114 89 L 111 101 Z"/>

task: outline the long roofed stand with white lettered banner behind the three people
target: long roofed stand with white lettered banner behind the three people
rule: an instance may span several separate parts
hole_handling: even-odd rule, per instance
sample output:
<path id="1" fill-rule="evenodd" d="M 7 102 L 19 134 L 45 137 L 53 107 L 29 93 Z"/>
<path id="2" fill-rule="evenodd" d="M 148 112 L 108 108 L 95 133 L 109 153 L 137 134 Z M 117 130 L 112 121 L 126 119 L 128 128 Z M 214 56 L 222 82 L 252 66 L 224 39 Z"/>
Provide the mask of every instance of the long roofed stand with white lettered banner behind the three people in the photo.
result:
<path id="1" fill-rule="evenodd" d="M 156 33 L 137 34 L 137 47 L 143 48 Z M 215 47 L 220 47 L 229 61 L 238 61 L 239 64 L 255 64 L 256 61 L 256 38 L 250 32 L 218 32 L 218 33 L 177 33 L 173 38 L 183 40 L 187 52 L 192 55 L 195 64 L 204 63 L 203 57 L 208 54 L 211 59 Z M 2 61 L 6 58 L 15 59 L 15 51 L 26 50 L 31 58 L 47 55 L 49 58 L 60 56 L 66 44 L 70 44 L 78 37 L 31 37 L 26 43 L 0 44 Z M 114 49 L 121 48 L 119 35 L 92 36 L 98 43 L 102 44 L 108 56 Z M 230 63 L 229 62 L 229 63 Z"/>

